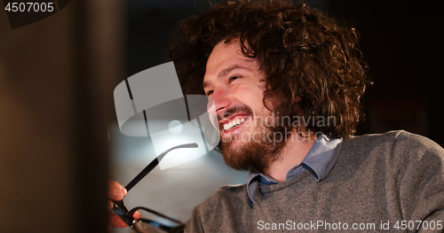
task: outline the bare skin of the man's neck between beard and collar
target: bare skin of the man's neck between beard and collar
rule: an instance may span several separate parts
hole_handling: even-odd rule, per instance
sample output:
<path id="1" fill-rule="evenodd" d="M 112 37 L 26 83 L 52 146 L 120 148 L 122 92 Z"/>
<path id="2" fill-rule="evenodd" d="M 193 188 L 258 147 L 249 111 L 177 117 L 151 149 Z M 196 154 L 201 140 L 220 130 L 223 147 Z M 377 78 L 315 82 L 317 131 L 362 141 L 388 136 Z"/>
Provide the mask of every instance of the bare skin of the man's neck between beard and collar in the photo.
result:
<path id="1" fill-rule="evenodd" d="M 282 148 L 280 159 L 274 161 L 264 171 L 265 175 L 272 177 L 277 182 L 284 182 L 289 169 L 299 165 L 316 141 L 315 136 L 299 136 L 291 134 L 287 144 Z"/>

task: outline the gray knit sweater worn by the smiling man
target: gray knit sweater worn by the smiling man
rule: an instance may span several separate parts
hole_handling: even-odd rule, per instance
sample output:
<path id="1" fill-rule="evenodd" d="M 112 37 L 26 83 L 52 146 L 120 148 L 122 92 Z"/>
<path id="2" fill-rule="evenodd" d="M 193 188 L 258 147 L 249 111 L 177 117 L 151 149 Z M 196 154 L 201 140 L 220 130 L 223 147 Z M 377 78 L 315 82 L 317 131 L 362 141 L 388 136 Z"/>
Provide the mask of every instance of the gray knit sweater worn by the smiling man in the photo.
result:
<path id="1" fill-rule="evenodd" d="M 444 232 L 444 150 L 405 131 L 344 140 L 321 182 L 308 171 L 224 186 L 196 206 L 186 232 Z M 434 229 L 434 230 L 431 230 Z"/>

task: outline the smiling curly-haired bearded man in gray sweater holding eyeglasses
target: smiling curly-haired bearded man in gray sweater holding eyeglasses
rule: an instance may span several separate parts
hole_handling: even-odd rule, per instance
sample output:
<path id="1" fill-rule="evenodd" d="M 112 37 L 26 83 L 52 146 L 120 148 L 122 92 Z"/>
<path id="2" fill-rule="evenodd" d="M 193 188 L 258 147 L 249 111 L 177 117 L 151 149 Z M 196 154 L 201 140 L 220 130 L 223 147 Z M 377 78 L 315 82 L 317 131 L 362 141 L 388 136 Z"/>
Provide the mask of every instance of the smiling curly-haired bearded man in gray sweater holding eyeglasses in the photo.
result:
<path id="1" fill-rule="evenodd" d="M 405 131 L 353 136 L 370 83 L 357 37 L 285 1 L 182 22 L 181 84 L 214 101 L 226 164 L 250 171 L 194 208 L 186 232 L 444 231 L 443 149 Z"/>

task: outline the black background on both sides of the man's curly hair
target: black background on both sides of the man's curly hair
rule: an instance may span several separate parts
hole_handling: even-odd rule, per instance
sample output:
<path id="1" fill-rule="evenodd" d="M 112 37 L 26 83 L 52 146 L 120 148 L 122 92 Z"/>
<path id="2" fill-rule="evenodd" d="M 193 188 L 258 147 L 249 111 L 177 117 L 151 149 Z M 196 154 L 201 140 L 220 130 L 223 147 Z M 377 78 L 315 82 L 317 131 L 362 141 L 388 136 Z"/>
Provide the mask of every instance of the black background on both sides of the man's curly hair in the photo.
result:
<path id="1" fill-rule="evenodd" d="M 365 121 L 357 135 L 405 129 L 444 144 L 441 115 L 444 22 L 437 4 L 413 1 L 306 2 L 344 19 L 361 34 L 361 51 L 374 85 L 364 97 Z M 208 1 L 129 0 L 128 76 L 167 61 L 178 20 L 208 9 Z"/>

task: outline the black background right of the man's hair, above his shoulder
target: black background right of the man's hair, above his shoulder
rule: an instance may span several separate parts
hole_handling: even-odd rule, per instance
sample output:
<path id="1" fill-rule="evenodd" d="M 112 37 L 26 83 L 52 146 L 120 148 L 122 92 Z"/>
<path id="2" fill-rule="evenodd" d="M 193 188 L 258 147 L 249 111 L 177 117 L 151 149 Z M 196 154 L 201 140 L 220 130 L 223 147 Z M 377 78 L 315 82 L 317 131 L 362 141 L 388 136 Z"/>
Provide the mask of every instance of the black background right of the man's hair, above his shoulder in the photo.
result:
<path id="1" fill-rule="evenodd" d="M 361 33 L 361 51 L 374 85 L 365 96 L 360 133 L 392 129 L 428 136 L 443 145 L 440 25 L 435 4 L 411 1 L 329 1 L 330 11 Z"/>

